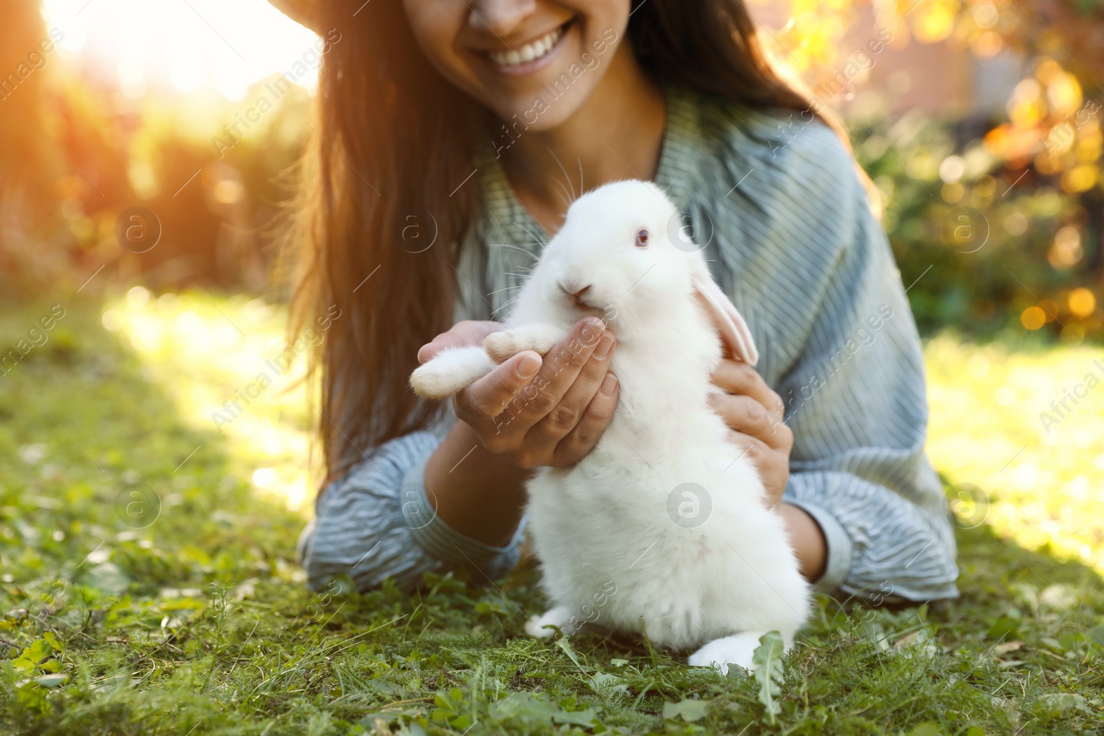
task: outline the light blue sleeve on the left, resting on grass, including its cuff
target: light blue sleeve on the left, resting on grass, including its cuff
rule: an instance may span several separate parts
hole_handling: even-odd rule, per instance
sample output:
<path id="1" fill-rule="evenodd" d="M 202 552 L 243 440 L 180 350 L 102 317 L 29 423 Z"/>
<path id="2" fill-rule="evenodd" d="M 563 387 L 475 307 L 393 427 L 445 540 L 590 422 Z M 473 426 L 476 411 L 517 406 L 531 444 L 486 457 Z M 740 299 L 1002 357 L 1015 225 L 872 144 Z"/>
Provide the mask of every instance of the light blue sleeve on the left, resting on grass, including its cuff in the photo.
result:
<path id="1" fill-rule="evenodd" d="M 317 590 L 348 575 L 362 590 L 388 578 L 413 588 L 424 573 L 449 569 L 465 569 L 486 582 L 513 568 L 523 525 L 510 544 L 495 547 L 437 516 L 424 473 L 439 444 L 428 430 L 399 437 L 368 452 L 323 490 L 298 545 L 309 587 Z"/>

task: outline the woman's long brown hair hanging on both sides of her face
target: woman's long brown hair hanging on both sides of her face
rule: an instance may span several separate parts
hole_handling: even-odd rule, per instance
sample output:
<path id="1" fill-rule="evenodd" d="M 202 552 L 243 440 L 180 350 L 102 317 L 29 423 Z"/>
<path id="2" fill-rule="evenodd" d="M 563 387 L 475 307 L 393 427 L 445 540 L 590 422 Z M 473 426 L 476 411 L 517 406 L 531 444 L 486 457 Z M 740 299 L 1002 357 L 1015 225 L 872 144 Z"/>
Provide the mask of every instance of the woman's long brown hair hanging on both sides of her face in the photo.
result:
<path id="1" fill-rule="evenodd" d="M 322 60 L 288 235 L 291 334 L 335 305 L 341 313 L 310 363 L 327 482 L 439 410 L 406 378 L 418 348 L 453 324 L 457 248 L 478 206 L 478 188 L 458 185 L 489 119 L 429 65 L 397 0 L 365 3 L 350 20 L 352 4 L 320 2 L 314 19 L 340 28 L 341 41 Z M 743 2 L 633 6 L 628 40 L 656 81 L 760 109 L 810 109 L 771 63 Z M 826 111 L 817 117 L 847 142 Z M 411 247 L 411 227 L 434 245 Z"/>

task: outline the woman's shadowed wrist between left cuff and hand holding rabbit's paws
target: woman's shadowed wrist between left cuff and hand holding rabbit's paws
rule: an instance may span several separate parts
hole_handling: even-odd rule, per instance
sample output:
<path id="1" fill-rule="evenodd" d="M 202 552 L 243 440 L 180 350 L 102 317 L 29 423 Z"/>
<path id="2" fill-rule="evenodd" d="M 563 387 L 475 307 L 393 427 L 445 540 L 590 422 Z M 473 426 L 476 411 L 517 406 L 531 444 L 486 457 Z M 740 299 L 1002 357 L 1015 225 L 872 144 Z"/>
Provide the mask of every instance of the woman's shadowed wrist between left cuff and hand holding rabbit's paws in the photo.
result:
<path id="1" fill-rule="evenodd" d="M 488 451 L 457 420 L 425 467 L 426 498 L 437 516 L 461 534 L 492 546 L 513 538 L 524 512 L 529 471 L 506 454 Z"/>

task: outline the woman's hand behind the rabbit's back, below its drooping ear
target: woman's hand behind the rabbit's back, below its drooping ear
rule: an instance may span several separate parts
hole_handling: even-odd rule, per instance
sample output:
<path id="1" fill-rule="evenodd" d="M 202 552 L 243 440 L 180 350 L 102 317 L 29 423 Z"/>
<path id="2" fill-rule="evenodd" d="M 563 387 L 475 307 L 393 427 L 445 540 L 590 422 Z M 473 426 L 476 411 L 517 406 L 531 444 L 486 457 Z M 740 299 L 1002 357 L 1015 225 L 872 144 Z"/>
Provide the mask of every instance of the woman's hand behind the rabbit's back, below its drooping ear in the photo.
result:
<path id="1" fill-rule="evenodd" d="M 725 392 L 710 396 L 713 410 L 732 430 L 730 439 L 755 462 L 767 502 L 777 506 L 789 480 L 789 451 L 794 447 L 794 433 L 783 423 L 782 397 L 755 369 L 729 358 L 721 361 L 712 377 Z"/>

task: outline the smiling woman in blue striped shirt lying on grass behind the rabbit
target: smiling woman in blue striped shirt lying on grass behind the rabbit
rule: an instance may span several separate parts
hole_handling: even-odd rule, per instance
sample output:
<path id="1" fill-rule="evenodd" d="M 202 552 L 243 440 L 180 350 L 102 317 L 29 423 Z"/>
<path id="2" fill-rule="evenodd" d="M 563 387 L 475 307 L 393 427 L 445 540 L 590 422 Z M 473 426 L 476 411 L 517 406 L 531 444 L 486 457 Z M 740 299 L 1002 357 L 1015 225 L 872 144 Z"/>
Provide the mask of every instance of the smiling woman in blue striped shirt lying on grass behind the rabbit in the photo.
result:
<path id="1" fill-rule="evenodd" d="M 802 573 L 875 600 L 957 596 L 923 455 L 920 340 L 869 182 L 839 127 L 772 68 L 742 3 L 277 4 L 341 39 L 294 231 L 293 326 L 331 305 L 347 316 L 317 355 L 328 478 L 299 546 L 312 587 L 513 567 L 529 470 L 576 462 L 611 419 L 616 335 L 567 370 L 522 353 L 452 412 L 406 378 L 500 329 L 574 194 L 640 178 L 686 213 L 763 353 L 758 371 L 724 362 L 715 409 Z M 501 422 L 533 381 L 551 382 L 541 401 Z"/>

